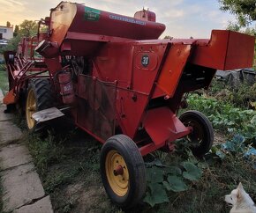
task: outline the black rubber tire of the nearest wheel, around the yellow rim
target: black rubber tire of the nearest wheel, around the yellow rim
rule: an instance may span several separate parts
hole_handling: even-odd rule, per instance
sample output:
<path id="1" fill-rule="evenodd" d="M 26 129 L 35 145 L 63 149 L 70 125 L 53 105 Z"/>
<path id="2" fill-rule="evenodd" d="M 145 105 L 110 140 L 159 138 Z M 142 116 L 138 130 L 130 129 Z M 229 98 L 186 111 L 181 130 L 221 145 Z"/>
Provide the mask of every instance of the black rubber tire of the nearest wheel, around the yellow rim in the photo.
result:
<path id="1" fill-rule="evenodd" d="M 106 158 L 109 151 L 117 151 L 127 165 L 129 172 L 128 190 L 124 196 L 117 195 L 109 185 L 106 172 Z M 146 171 L 139 148 L 129 136 L 116 135 L 104 143 L 101 151 L 101 174 L 103 186 L 109 198 L 123 209 L 131 209 L 141 201 L 146 191 Z"/>

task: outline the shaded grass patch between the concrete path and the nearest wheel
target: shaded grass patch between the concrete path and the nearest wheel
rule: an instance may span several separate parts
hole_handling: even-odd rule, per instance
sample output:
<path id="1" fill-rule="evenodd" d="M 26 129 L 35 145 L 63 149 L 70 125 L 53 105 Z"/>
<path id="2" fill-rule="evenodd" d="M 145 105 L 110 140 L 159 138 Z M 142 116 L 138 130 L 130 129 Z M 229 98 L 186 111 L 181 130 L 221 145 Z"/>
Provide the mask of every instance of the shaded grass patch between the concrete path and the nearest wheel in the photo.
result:
<path id="1" fill-rule="evenodd" d="M 55 212 L 117 211 L 102 187 L 100 143 L 79 129 L 64 132 L 25 139 Z"/>

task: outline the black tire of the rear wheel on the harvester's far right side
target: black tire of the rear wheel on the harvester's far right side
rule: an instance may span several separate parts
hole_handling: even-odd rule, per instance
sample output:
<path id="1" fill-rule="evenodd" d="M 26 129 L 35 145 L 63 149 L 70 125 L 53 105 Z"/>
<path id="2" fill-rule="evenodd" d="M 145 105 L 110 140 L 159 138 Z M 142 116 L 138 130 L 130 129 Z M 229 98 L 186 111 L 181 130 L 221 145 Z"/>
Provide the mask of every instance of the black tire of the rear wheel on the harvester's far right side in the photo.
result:
<path id="1" fill-rule="evenodd" d="M 194 131 L 188 136 L 188 139 L 192 142 L 195 134 L 200 131 L 200 144 L 198 146 L 191 147 L 194 156 L 201 157 L 210 151 L 214 143 L 214 129 L 207 116 L 196 110 L 190 110 L 181 114 L 180 121 L 184 123 L 184 126 L 194 127 Z"/>

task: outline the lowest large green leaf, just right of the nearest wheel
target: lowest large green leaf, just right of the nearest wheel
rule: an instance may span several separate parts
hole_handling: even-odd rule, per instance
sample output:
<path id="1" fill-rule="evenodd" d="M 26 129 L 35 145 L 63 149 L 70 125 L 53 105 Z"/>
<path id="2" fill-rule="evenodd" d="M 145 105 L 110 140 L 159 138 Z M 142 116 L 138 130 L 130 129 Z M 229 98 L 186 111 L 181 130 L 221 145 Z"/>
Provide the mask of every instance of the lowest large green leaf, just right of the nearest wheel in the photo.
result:
<path id="1" fill-rule="evenodd" d="M 150 192 L 147 192 L 144 202 L 147 202 L 151 207 L 162 202 L 169 202 L 169 198 L 162 184 L 149 183 L 148 187 L 150 188 Z"/>

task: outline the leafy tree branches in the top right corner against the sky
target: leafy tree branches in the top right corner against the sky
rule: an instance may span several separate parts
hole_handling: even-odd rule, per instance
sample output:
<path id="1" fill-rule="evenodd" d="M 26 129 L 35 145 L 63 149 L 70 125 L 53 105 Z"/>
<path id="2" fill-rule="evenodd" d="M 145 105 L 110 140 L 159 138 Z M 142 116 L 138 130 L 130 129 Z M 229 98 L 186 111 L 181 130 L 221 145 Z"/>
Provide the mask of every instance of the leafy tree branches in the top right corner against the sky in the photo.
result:
<path id="1" fill-rule="evenodd" d="M 218 0 L 222 11 L 230 11 L 237 16 L 240 26 L 249 26 L 256 20 L 255 0 Z"/>

